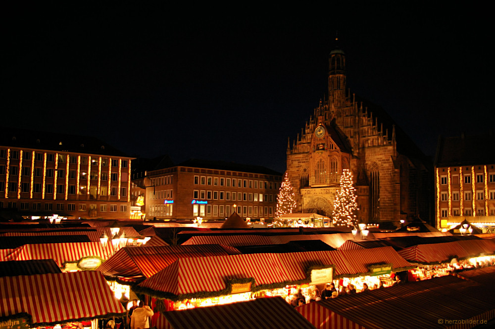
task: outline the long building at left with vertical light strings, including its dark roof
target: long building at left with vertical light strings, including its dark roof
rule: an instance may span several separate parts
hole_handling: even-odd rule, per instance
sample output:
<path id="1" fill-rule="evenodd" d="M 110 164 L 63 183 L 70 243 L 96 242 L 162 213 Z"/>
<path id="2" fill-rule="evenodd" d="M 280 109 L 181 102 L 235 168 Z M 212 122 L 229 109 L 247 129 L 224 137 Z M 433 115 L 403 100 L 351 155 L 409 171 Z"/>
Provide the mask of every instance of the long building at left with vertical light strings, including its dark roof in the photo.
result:
<path id="1" fill-rule="evenodd" d="M 92 137 L 2 129 L 0 206 L 21 216 L 129 218 L 131 160 Z"/>

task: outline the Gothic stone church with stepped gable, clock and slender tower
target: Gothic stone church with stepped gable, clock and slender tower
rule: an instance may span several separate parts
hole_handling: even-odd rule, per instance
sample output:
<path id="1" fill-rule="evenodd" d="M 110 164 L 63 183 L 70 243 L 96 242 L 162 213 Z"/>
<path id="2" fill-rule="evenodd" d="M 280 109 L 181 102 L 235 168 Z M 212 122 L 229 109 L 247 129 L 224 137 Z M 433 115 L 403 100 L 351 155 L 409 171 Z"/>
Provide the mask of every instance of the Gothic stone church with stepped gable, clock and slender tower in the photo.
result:
<path id="1" fill-rule="evenodd" d="M 347 90 L 341 49 L 330 53 L 329 68 L 328 97 L 287 145 L 298 211 L 331 217 L 342 170 L 350 169 L 359 222 L 428 221 L 433 184 L 428 160 L 380 107 Z"/>

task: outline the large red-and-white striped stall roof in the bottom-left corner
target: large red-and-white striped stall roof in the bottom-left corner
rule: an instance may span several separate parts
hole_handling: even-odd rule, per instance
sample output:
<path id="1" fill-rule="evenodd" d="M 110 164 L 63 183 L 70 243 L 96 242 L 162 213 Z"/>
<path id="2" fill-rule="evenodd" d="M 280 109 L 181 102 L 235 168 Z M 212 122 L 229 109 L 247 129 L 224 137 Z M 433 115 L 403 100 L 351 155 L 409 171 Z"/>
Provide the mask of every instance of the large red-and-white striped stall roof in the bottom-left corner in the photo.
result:
<path id="1" fill-rule="evenodd" d="M 27 313 L 32 325 L 121 316 L 122 304 L 101 273 L 83 271 L 0 278 L 0 317 Z"/>

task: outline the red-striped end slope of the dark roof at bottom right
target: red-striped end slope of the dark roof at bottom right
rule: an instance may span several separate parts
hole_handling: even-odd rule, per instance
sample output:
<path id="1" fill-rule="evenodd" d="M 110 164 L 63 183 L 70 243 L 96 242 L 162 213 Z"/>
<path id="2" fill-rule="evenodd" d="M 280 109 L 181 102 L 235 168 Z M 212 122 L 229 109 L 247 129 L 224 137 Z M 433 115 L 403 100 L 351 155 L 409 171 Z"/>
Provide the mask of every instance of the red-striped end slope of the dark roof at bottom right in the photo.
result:
<path id="1" fill-rule="evenodd" d="M 318 302 L 298 306 L 296 311 L 317 329 L 366 329 Z"/>

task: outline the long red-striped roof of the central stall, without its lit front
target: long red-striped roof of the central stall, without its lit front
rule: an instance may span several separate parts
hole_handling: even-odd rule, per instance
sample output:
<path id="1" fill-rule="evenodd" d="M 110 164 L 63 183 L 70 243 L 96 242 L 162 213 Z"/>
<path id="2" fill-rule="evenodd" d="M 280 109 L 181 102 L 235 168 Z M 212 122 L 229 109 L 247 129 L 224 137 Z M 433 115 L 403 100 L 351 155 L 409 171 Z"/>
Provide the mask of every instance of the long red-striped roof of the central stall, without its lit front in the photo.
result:
<path id="1" fill-rule="evenodd" d="M 333 266 L 334 277 L 361 276 L 368 265 L 392 264 L 392 270 L 412 268 L 392 247 L 362 250 L 258 253 L 180 258 L 136 289 L 161 298 L 183 300 L 199 295 L 230 293 L 229 280 L 254 280 L 251 290 L 308 283 L 314 266 Z"/>

